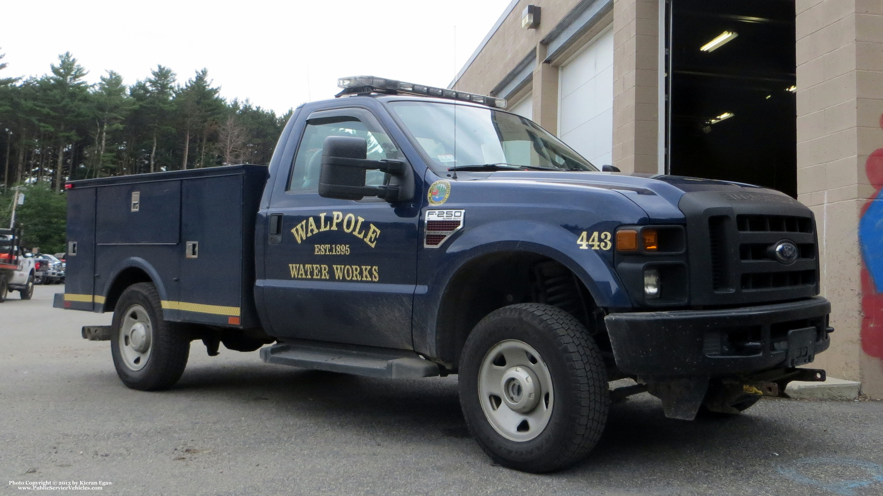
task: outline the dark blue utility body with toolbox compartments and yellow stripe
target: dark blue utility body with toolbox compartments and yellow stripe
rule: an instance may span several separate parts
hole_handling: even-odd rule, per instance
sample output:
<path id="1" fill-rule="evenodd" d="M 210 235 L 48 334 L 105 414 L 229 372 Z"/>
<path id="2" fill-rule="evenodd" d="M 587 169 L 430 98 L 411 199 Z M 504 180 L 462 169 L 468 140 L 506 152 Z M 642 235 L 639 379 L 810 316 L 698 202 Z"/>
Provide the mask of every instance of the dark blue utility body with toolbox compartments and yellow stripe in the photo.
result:
<path id="1" fill-rule="evenodd" d="M 167 320 L 259 327 L 254 219 L 267 177 L 267 167 L 234 165 L 69 183 L 67 281 L 55 305 L 112 309 L 112 285 L 146 273 Z"/>

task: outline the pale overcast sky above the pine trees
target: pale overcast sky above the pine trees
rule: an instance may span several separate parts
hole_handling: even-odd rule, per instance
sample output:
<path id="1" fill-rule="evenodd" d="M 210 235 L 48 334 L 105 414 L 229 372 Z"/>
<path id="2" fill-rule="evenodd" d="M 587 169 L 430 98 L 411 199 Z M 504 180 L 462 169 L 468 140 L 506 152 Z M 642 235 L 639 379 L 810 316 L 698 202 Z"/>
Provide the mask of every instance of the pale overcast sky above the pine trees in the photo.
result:
<path id="1" fill-rule="evenodd" d="M 183 83 L 205 67 L 223 97 L 283 113 L 330 98 L 343 76 L 448 86 L 509 2 L 6 2 L 0 75 L 42 75 L 65 51 L 89 82 L 113 69 L 132 84 L 162 64 Z"/>

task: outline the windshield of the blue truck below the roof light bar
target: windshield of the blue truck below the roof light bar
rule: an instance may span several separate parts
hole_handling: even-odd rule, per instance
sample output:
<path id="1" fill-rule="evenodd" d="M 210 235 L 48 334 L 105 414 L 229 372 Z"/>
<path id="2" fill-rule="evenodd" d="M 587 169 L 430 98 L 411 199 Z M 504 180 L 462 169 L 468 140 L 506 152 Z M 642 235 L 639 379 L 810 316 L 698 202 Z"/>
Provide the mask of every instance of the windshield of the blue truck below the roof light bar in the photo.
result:
<path id="1" fill-rule="evenodd" d="M 436 172 L 491 164 L 511 169 L 598 170 L 522 116 L 431 101 L 392 101 L 389 107 L 429 156 Z"/>

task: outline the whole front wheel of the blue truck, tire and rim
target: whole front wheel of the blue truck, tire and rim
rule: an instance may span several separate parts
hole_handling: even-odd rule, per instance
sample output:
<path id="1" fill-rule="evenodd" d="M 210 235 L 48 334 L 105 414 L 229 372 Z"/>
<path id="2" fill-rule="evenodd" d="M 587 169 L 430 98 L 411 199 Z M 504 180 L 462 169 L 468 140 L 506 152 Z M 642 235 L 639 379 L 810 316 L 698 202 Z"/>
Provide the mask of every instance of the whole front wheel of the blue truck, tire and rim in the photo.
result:
<path id="1" fill-rule="evenodd" d="M 459 388 L 472 436 L 512 469 L 568 467 L 607 423 L 600 350 L 576 318 L 547 304 L 513 304 L 482 319 L 464 344 Z"/>

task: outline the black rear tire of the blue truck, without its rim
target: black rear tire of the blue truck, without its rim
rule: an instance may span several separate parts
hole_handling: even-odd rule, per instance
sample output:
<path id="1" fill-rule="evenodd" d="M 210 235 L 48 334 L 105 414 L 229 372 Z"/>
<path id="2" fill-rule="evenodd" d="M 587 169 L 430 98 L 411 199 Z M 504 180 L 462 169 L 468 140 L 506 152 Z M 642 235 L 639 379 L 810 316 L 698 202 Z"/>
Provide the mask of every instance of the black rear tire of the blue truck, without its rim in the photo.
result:
<path id="1" fill-rule="evenodd" d="M 150 356 L 140 370 L 129 368 L 120 350 L 121 324 L 125 313 L 136 304 L 147 312 L 152 329 Z M 174 386 L 181 378 L 190 354 L 190 339 L 174 323 L 162 319 L 162 305 L 155 286 L 139 282 L 126 288 L 117 300 L 110 329 L 110 350 L 123 384 L 141 391 L 157 391 Z"/>

